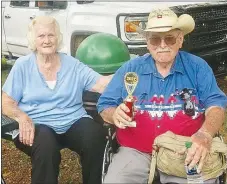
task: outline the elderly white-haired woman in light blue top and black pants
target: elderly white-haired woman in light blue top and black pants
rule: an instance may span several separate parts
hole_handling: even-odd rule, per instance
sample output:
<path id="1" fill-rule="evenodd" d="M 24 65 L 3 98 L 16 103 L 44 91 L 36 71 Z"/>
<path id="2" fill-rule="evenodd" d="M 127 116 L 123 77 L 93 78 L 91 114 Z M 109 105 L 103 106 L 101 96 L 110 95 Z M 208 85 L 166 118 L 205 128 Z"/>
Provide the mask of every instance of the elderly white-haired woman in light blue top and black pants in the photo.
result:
<path id="1" fill-rule="evenodd" d="M 82 92 L 101 93 L 110 76 L 58 52 L 56 20 L 36 17 L 28 31 L 33 51 L 14 64 L 2 93 L 2 112 L 19 123 L 17 148 L 31 156 L 32 183 L 58 183 L 60 150 L 81 156 L 84 184 L 101 182 L 105 133 L 85 111 Z"/>

